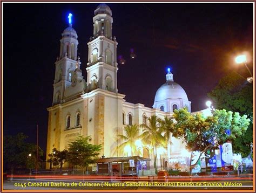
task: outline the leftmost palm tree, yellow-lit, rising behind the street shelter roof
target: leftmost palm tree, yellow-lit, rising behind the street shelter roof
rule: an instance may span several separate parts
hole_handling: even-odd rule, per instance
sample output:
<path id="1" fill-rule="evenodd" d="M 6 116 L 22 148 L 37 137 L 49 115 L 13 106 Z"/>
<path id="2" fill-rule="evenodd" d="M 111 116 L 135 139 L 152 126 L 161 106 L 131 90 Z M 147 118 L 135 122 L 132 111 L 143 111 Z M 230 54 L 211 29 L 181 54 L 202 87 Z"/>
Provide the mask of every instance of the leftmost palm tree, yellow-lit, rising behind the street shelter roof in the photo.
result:
<path id="1" fill-rule="evenodd" d="M 124 127 L 124 135 L 117 135 L 121 140 L 124 140 L 118 148 L 124 153 L 126 147 L 130 147 L 131 156 L 136 153 L 136 141 L 139 139 L 139 127 L 138 125 L 126 125 Z M 128 153 L 127 153 L 128 155 Z"/>

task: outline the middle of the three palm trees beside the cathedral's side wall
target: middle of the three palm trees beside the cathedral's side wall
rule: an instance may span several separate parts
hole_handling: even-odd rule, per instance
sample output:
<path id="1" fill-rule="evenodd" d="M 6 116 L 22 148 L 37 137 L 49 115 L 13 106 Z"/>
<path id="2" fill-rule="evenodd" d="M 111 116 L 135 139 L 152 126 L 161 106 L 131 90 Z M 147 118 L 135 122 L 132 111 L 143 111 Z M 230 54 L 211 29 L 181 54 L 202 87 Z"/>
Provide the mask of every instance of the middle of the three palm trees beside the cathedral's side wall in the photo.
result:
<path id="1" fill-rule="evenodd" d="M 159 125 L 160 119 L 157 118 L 156 115 L 151 116 L 151 118 L 148 118 L 149 124 L 142 124 L 140 127 L 143 128 L 143 134 L 140 135 L 142 137 L 142 140 L 144 144 L 148 144 L 151 147 L 151 150 L 153 150 L 154 153 L 154 169 L 156 170 L 157 174 L 157 148 L 166 146 L 166 140 L 165 137 L 162 135 L 163 130 L 161 129 Z"/>

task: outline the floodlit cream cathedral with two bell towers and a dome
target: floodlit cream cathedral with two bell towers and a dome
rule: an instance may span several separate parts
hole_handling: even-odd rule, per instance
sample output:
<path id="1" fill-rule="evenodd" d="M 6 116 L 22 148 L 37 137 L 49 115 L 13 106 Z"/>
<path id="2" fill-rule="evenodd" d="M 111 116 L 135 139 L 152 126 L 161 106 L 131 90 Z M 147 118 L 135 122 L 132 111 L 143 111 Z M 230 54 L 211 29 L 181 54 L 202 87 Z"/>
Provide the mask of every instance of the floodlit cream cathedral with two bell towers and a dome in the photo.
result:
<path id="1" fill-rule="evenodd" d="M 102 144 L 100 156 L 122 157 L 123 154 L 116 150 L 120 143 L 117 135 L 123 134 L 125 125 L 146 123 L 152 115 L 161 119 L 170 117 L 175 109 L 184 107 L 191 112 L 191 101 L 184 89 L 174 82 L 170 70 L 166 82 L 156 91 L 153 108 L 132 104 L 124 99 L 124 94 L 118 93 L 118 43 L 112 36 L 112 11 L 106 4 L 100 4 L 94 13 L 93 36 L 87 43 L 87 80 L 80 70 L 78 36 L 72 27 L 71 14 L 69 26 L 62 33 L 59 57 L 55 62 L 52 106 L 48 108 L 46 155 L 53 148 L 68 148 L 71 141 L 83 135 L 90 136 L 92 144 Z M 185 144 L 172 137 L 158 164 L 167 166 L 173 160 L 186 162 L 184 150 Z M 153 160 L 147 148 L 140 154 Z"/>

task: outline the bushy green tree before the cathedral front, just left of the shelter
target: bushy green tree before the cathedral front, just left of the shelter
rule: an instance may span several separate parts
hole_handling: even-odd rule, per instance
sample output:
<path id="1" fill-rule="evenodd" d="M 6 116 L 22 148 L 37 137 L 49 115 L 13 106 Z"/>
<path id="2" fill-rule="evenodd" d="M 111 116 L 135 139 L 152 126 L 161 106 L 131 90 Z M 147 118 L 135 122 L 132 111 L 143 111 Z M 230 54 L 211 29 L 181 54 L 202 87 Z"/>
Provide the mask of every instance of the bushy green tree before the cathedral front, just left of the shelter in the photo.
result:
<path id="1" fill-rule="evenodd" d="M 68 149 L 68 162 L 73 166 L 80 166 L 84 169 L 90 164 L 93 164 L 98 159 L 99 151 L 102 149 L 102 145 L 94 145 L 88 142 L 90 136 L 78 136 L 76 141 L 69 144 Z"/>

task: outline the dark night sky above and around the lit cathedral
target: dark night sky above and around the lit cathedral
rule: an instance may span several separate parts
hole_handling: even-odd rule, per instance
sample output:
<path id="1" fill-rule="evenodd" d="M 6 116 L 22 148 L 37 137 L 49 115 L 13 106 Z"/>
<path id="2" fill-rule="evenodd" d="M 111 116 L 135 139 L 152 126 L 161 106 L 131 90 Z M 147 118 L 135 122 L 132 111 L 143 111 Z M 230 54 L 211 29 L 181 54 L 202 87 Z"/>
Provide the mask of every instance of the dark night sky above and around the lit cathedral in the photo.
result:
<path id="1" fill-rule="evenodd" d="M 236 54 L 253 49 L 252 3 L 109 3 L 117 54 L 118 90 L 126 101 L 152 107 L 154 95 L 171 67 L 174 81 L 192 101 L 192 111 L 204 109 L 207 92 L 235 70 L 248 77 Z M 45 150 L 47 107 L 52 103 L 59 39 L 73 13 L 78 52 L 86 80 L 87 42 L 93 33 L 98 4 L 3 4 L 4 135 L 23 132 Z M 136 59 L 130 59 L 134 49 Z M 252 68 L 252 61 L 248 61 Z"/>

